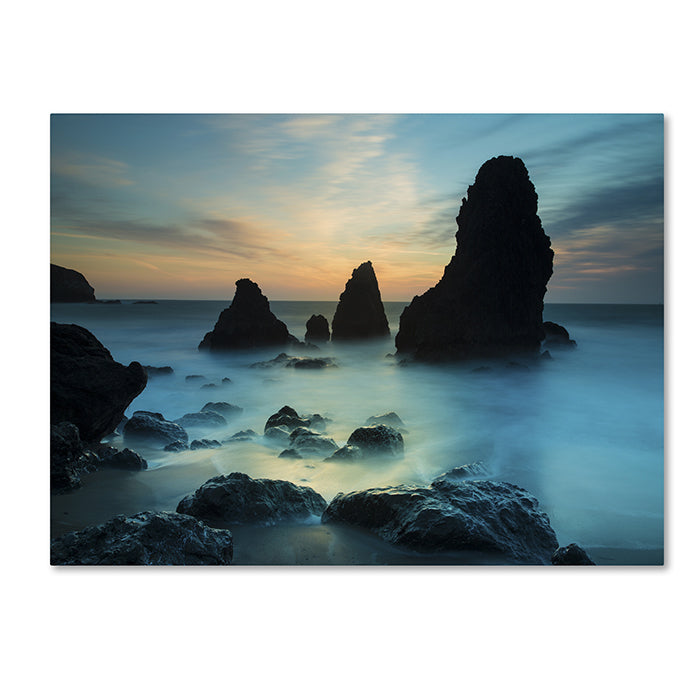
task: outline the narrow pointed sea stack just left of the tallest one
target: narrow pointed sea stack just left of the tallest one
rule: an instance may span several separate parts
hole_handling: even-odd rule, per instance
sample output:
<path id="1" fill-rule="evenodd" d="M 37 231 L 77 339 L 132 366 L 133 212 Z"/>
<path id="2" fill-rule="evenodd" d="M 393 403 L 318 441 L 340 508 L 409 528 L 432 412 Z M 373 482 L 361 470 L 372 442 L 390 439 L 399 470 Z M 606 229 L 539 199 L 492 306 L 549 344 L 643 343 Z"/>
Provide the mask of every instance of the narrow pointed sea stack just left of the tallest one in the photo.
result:
<path id="1" fill-rule="evenodd" d="M 332 340 L 379 338 L 389 335 L 389 323 L 372 263 L 352 271 L 340 295 L 332 323 Z"/>

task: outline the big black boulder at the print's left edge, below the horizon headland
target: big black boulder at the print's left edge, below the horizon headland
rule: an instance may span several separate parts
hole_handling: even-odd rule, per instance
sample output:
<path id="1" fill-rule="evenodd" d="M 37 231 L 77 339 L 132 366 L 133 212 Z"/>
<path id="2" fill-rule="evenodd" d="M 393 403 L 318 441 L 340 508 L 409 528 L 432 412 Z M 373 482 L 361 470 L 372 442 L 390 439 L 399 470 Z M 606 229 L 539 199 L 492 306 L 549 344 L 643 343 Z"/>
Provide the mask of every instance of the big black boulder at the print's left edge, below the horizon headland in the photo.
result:
<path id="1" fill-rule="evenodd" d="M 51 423 L 77 426 L 84 442 L 98 442 L 119 425 L 146 387 L 138 362 L 115 362 L 90 331 L 51 323 Z"/>

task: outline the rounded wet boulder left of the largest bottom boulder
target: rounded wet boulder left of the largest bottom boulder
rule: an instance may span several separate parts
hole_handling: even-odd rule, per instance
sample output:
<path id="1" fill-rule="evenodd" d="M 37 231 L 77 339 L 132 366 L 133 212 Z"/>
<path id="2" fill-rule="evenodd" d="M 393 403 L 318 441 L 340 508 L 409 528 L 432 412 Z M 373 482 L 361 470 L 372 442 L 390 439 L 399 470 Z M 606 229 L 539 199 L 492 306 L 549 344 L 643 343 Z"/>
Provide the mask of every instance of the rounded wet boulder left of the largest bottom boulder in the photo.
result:
<path id="1" fill-rule="evenodd" d="M 326 505 L 324 498 L 308 487 L 289 481 L 251 479 L 234 472 L 209 479 L 178 503 L 177 512 L 205 522 L 270 525 L 321 515 Z"/>

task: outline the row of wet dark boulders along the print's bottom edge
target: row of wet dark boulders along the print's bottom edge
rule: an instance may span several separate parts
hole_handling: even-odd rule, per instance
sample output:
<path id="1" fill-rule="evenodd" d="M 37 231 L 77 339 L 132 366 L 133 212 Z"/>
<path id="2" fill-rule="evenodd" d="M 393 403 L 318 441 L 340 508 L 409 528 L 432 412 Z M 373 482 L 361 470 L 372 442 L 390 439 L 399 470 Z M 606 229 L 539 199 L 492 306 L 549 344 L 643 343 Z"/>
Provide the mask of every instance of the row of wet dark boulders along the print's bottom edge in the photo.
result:
<path id="1" fill-rule="evenodd" d="M 51 543 L 55 565 L 231 564 L 239 524 L 283 521 L 360 527 L 416 552 L 496 552 L 517 564 L 591 565 L 576 544 L 559 547 L 549 518 L 524 489 L 488 480 L 434 480 L 338 494 L 233 472 L 185 496 L 175 513 L 119 515 Z"/>

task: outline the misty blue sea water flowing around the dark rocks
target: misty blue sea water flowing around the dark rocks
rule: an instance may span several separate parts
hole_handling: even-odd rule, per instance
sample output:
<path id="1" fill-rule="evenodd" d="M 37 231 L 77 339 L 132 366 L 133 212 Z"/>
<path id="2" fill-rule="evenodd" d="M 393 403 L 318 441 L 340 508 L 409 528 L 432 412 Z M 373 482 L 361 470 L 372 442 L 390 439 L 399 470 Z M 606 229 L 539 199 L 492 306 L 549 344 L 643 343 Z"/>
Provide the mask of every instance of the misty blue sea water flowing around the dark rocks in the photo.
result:
<path id="1" fill-rule="evenodd" d="M 222 440 L 245 429 L 262 435 L 267 418 L 289 405 L 330 419 L 326 433 L 342 446 L 369 416 L 394 411 L 406 425 L 404 457 L 280 459 L 283 448 L 262 438 L 177 454 L 139 449 L 148 470 L 89 474 L 81 489 L 52 498 L 54 535 L 118 513 L 174 510 L 208 478 L 233 471 L 310 486 L 330 500 L 341 491 L 428 484 L 447 469 L 481 461 L 486 478 L 535 495 L 560 544 L 577 542 L 599 564 L 662 563 L 663 306 L 545 304 L 544 318 L 564 325 L 578 348 L 552 350 L 551 361 L 529 367 L 492 364 L 485 371 L 487 362 L 400 365 L 387 357 L 406 304 L 385 302 L 390 337 L 324 344 L 305 354 L 333 357 L 338 367 L 301 370 L 250 367 L 272 359 L 275 349 L 199 352 L 229 303 L 52 304 L 51 318 L 87 328 L 118 362 L 173 368 L 149 379 L 127 416 L 147 410 L 173 420 L 227 401 L 244 409 L 227 426 L 187 431 L 190 439 Z M 336 303 L 279 301 L 271 308 L 303 339 L 309 316 L 331 319 Z M 235 532 L 246 563 L 444 563 L 318 522 Z M 481 563 L 467 556 L 453 563 L 460 561 Z"/>

